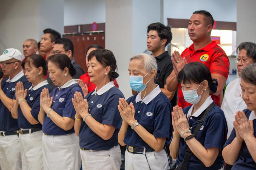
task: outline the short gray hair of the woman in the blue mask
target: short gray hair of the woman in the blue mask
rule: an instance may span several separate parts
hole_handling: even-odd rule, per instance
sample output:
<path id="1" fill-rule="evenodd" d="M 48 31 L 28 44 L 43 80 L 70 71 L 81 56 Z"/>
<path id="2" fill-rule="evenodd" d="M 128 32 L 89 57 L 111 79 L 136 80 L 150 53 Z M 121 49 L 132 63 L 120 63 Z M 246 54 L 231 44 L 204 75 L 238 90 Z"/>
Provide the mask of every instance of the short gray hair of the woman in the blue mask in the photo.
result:
<path id="1" fill-rule="evenodd" d="M 131 57 L 130 62 L 134 59 L 143 60 L 144 70 L 147 70 L 148 72 L 150 72 L 151 70 L 156 70 L 154 78 L 154 81 L 156 82 L 156 80 L 158 79 L 156 58 L 149 54 L 139 53 Z"/>

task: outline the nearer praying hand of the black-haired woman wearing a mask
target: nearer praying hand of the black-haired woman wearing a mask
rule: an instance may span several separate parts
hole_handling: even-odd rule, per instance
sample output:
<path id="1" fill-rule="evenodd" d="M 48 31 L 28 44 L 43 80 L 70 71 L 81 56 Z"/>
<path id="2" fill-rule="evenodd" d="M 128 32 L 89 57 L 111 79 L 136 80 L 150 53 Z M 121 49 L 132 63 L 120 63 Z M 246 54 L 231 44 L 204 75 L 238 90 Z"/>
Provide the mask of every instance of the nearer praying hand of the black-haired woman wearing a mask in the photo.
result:
<path id="1" fill-rule="evenodd" d="M 176 130 L 181 135 L 183 132 L 189 130 L 188 121 L 186 115 L 183 113 L 183 110 L 179 106 L 175 106 L 173 110 L 173 117 L 175 121 Z"/>

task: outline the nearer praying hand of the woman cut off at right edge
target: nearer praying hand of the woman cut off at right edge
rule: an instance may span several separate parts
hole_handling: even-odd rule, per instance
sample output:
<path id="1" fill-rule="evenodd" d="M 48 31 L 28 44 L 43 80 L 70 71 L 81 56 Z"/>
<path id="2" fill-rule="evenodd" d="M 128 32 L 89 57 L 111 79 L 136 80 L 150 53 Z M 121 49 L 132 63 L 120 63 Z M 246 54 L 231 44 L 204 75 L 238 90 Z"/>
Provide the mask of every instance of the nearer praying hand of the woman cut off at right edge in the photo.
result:
<path id="1" fill-rule="evenodd" d="M 241 138 L 245 140 L 247 137 L 254 136 L 253 121 L 248 121 L 244 112 L 238 112 L 235 117 L 236 122 L 234 122 L 234 125 L 236 126 Z"/>

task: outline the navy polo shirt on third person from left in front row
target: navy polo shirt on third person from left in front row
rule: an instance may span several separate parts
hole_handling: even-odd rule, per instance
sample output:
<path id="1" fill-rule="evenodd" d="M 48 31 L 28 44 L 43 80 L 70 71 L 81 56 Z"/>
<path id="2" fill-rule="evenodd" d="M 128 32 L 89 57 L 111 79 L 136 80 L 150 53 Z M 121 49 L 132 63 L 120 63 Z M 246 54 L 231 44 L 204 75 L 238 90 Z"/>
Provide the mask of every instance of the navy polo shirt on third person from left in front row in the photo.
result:
<path id="1" fill-rule="evenodd" d="M 51 108 L 62 117 L 69 117 L 75 119 L 75 108 L 72 103 L 72 98 L 74 98 L 75 92 L 81 92 L 83 95 L 83 91 L 79 84 L 75 83 L 72 79 L 62 85 L 61 87 L 56 87 L 51 93 L 50 97 L 53 97 L 53 104 Z M 44 122 L 42 125 L 43 133 L 47 135 L 67 135 L 74 133 L 74 127 L 70 130 L 65 131 L 64 129 L 57 126 L 51 118 L 47 117 L 45 114 Z"/>

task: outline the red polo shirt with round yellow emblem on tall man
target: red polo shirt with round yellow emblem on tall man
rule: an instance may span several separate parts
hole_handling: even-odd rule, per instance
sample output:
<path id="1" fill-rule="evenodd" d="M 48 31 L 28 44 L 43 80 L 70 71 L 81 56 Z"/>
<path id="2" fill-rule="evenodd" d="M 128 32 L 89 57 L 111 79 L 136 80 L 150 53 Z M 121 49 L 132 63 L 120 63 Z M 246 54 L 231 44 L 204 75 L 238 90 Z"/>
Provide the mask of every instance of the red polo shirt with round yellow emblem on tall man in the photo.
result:
<path id="1" fill-rule="evenodd" d="M 212 41 L 210 44 L 197 51 L 194 51 L 194 44 L 192 44 L 181 53 L 181 56 L 183 58 L 185 57 L 188 63 L 201 62 L 209 68 L 212 74 L 221 74 L 226 79 L 228 78 L 229 59 L 225 51 L 216 44 L 216 41 Z M 221 95 L 214 96 L 211 94 L 211 96 L 215 104 L 220 107 Z M 181 84 L 179 84 L 178 105 L 182 108 L 191 105 L 184 100 Z"/>

